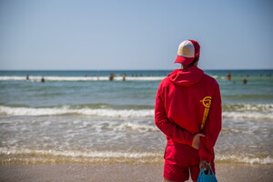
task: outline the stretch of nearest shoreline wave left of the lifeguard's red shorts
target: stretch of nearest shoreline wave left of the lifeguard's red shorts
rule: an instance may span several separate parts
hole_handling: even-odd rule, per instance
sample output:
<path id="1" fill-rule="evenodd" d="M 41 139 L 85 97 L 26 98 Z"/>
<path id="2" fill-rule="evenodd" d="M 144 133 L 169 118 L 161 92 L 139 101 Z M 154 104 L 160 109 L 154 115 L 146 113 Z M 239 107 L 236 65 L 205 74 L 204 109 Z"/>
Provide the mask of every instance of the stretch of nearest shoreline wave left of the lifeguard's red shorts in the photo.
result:
<path id="1" fill-rule="evenodd" d="M 158 163 L 162 154 L 153 152 L 58 151 L 0 148 L 0 163 Z"/>

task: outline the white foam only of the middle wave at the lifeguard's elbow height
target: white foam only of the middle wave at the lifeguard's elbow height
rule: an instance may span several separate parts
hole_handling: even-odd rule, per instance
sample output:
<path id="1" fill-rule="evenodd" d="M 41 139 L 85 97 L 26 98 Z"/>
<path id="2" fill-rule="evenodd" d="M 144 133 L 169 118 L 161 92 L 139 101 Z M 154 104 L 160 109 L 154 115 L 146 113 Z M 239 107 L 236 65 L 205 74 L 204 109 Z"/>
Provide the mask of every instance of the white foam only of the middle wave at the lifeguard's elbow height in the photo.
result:
<path id="1" fill-rule="evenodd" d="M 43 108 L 32 108 L 32 107 L 11 107 L 11 106 L 0 106 L 0 115 L 7 116 L 57 116 L 57 115 L 84 115 L 84 116 L 107 116 L 107 117 L 146 117 L 154 116 L 154 109 L 107 109 L 107 108 L 79 108 L 73 109 L 69 106 L 62 107 L 43 107 Z M 224 118 L 233 119 L 265 119 L 273 120 L 271 107 L 268 110 L 257 111 L 224 111 Z"/>

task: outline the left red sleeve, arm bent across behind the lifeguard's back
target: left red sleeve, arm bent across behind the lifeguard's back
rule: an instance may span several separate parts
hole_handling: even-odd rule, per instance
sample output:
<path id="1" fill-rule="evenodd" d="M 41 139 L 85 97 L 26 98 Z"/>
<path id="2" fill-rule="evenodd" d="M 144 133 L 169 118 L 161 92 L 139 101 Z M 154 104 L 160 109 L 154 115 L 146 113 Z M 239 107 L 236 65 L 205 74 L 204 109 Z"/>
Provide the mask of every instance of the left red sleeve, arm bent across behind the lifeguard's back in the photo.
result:
<path id="1" fill-rule="evenodd" d="M 182 127 L 177 126 L 176 123 L 171 122 L 167 118 L 164 105 L 164 95 L 161 92 L 161 86 L 162 84 L 158 87 L 156 97 L 155 106 L 156 125 L 167 137 L 171 138 L 175 142 L 191 146 L 194 135 L 189 133 Z"/>

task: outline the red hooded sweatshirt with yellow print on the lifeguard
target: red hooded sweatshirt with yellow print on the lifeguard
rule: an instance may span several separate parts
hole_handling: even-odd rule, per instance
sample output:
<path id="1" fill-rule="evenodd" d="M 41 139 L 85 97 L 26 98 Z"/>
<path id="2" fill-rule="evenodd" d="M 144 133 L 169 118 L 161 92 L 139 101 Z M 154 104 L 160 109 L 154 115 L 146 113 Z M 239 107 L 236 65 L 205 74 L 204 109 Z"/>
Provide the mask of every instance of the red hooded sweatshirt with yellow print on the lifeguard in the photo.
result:
<path id="1" fill-rule="evenodd" d="M 221 96 L 217 81 L 197 66 L 177 69 L 158 86 L 155 122 L 167 143 L 192 145 L 200 137 L 200 160 L 212 162 L 213 147 L 222 126 Z"/>

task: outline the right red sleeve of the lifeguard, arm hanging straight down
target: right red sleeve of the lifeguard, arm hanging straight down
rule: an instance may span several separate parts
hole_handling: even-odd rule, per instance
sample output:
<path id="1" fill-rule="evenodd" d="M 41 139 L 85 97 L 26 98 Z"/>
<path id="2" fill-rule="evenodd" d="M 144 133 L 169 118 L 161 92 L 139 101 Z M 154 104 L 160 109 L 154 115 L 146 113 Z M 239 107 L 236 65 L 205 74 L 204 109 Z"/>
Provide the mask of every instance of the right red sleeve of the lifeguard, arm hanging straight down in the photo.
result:
<path id="1" fill-rule="evenodd" d="M 214 157 L 213 147 L 222 127 L 221 96 L 218 84 L 214 89 L 207 122 L 203 130 L 205 137 L 200 137 L 199 157 L 200 160 L 211 162 Z"/>

